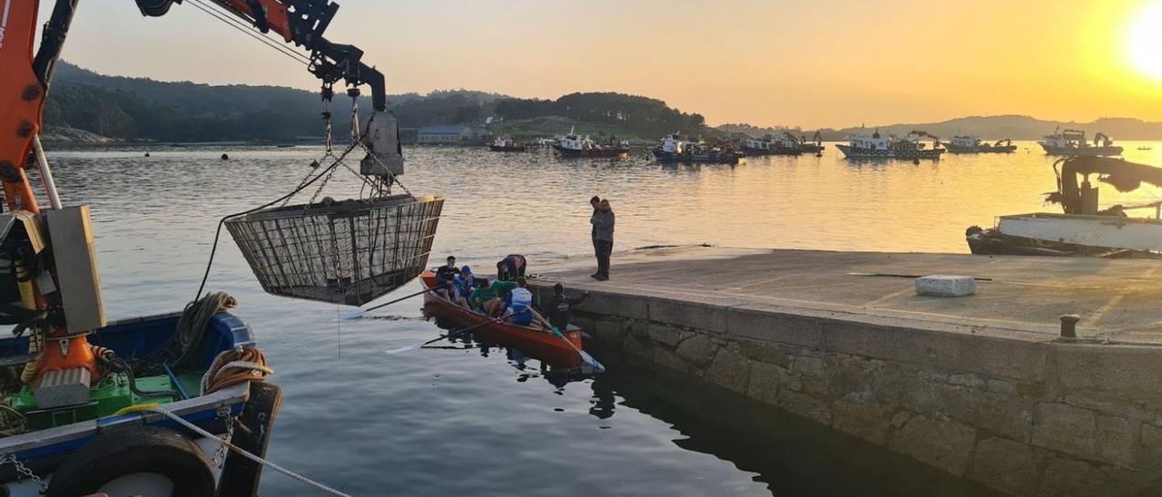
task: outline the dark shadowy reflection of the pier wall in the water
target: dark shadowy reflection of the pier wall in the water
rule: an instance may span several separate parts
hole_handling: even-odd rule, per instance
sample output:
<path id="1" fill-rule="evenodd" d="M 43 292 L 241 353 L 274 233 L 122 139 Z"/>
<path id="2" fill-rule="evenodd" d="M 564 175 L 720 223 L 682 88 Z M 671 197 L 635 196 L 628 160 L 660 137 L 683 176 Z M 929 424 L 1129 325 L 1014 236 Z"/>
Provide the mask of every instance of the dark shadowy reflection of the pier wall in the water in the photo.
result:
<path id="1" fill-rule="evenodd" d="M 674 445 L 752 473 L 775 496 L 1000 496 L 899 454 L 838 433 L 738 394 L 693 383 L 615 351 L 590 383 L 601 419 L 640 412 L 681 433 Z"/>

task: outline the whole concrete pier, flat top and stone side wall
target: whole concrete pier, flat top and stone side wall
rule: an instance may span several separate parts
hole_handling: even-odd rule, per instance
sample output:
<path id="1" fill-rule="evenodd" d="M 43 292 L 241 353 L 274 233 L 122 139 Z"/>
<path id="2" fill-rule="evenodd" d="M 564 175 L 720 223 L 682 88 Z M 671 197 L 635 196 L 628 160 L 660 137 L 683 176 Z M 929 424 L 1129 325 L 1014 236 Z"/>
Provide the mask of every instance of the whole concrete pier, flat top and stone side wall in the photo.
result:
<path id="1" fill-rule="evenodd" d="M 589 291 L 575 322 L 655 367 L 1010 495 L 1162 495 L 1162 261 L 661 248 L 607 282 L 588 262 L 533 286 Z M 982 280 L 903 278 L 927 274 Z"/>

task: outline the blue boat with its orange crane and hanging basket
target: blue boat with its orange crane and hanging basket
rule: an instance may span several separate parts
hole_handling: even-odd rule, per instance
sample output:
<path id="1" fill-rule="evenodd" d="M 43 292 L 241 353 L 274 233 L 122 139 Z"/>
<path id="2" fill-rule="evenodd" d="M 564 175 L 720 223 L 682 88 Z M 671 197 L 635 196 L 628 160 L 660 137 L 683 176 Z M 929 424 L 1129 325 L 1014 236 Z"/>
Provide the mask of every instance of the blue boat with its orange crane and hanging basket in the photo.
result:
<path id="1" fill-rule="evenodd" d="M 5 2 L 0 43 L 0 491 L 6 496 L 177 495 L 253 496 L 264 467 L 316 490 L 342 492 L 265 461 L 281 390 L 251 327 L 229 312 L 237 302 L 202 287 L 185 311 L 108 322 L 101 305 L 95 238 L 87 206 L 66 206 L 40 141 L 43 109 L 79 0 L 56 0 L 34 52 L 38 2 Z M 175 0 L 136 0 L 145 16 L 163 16 Z M 329 0 L 195 2 L 218 20 L 249 23 L 256 36 L 309 51 L 309 71 L 330 102 L 333 85 L 352 98 L 352 143 L 333 163 L 311 171 L 292 194 L 223 218 L 264 289 L 275 295 L 358 304 L 414 279 L 426 264 L 443 199 L 402 188 L 399 129 L 387 109 L 383 74 L 356 46 L 324 31 L 338 5 Z M 221 17 L 228 16 L 228 17 Z M 223 21 L 225 22 L 225 21 Z M 236 27 L 239 24 L 235 24 Z M 277 46 L 277 45 L 274 45 Z M 35 53 L 35 55 L 34 55 Z M 290 51 L 284 53 L 292 53 Z M 297 52 L 294 52 L 297 53 Z M 359 87 L 372 89 L 373 111 L 359 122 Z M 330 149 L 330 111 L 327 117 Z M 360 127 L 361 124 L 361 127 Z M 330 152 L 330 150 L 329 150 Z M 372 193 L 349 201 L 274 207 L 318 183 L 353 152 Z M 328 157 L 324 156 L 324 157 Z M 33 163 L 26 160 L 35 157 Z M 354 159 L 353 159 L 354 160 Z M 48 206 L 27 168 L 38 170 Z M 317 192 L 316 192 L 317 194 Z M 125 208 L 132 200 L 125 199 Z M 378 216 L 378 217 L 375 217 Z M 373 230 L 370 217 L 400 231 Z M 340 219 L 336 224 L 329 219 Z M 327 223 L 343 240 L 271 235 L 278 226 Z M 235 232 L 237 229 L 238 232 Z M 258 231 L 261 229 L 263 231 Z M 365 235 L 375 231 L 376 242 Z M 394 232 L 393 232 L 394 231 Z M 401 238 L 402 237 L 402 238 Z M 388 243 L 388 239 L 396 242 Z M 401 245 L 403 240 L 406 245 Z M 345 252 L 339 243 L 347 244 Z M 215 238 L 215 248 L 217 238 Z M 278 255 L 264 254 L 278 244 Z M 351 252 L 351 245 L 360 252 Z M 329 254 L 322 267 L 324 250 Z M 402 250 L 402 252 L 401 252 Z M 295 252 L 288 254 L 287 252 Z M 389 255 L 393 254 L 393 255 Z M 313 264 L 314 264 L 313 262 Z M 213 251 L 210 253 L 213 264 Z M 282 272 L 287 264 L 294 269 Z M 354 264 L 354 266 L 352 266 Z M 275 271 L 272 265 L 282 265 Z M 361 265 L 361 266 L 360 266 Z M 211 462 L 207 453 L 221 453 Z"/>

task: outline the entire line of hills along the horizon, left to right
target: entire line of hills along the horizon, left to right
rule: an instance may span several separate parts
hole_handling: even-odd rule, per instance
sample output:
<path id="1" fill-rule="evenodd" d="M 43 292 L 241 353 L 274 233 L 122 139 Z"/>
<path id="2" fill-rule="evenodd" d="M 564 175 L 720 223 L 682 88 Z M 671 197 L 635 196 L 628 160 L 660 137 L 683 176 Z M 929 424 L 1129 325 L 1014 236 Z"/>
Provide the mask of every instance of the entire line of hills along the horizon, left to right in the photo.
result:
<path id="1" fill-rule="evenodd" d="M 389 95 L 388 102 L 402 128 L 431 124 L 480 124 L 497 117 L 496 134 L 519 137 L 559 135 L 576 127 L 594 136 L 616 135 L 653 142 L 670 132 L 689 136 L 762 136 L 784 128 L 751 124 L 705 125 L 697 113 L 684 113 L 647 96 L 619 93 L 574 93 L 555 100 L 517 99 L 467 89 Z M 370 99 L 360 109 L 371 109 Z M 345 129 L 346 96 L 337 95 L 336 128 Z M 62 63 L 45 106 L 45 138 L 102 142 L 289 142 L 318 139 L 323 135 L 322 103 L 315 92 L 280 86 L 206 85 L 156 81 L 98 74 Z M 1081 129 L 1090 136 L 1104 132 L 1116 139 L 1162 139 L 1162 123 L 1129 117 L 1103 117 L 1089 123 L 1056 122 L 1030 116 L 974 116 L 938 123 L 867 127 L 906 135 L 912 130 L 949 138 L 977 135 L 984 139 L 1038 139 L 1056 128 Z M 797 135 L 815 130 L 789 128 Z M 860 128 L 824 129 L 824 139 L 839 141 Z M 339 131 L 342 132 L 342 131 Z"/>

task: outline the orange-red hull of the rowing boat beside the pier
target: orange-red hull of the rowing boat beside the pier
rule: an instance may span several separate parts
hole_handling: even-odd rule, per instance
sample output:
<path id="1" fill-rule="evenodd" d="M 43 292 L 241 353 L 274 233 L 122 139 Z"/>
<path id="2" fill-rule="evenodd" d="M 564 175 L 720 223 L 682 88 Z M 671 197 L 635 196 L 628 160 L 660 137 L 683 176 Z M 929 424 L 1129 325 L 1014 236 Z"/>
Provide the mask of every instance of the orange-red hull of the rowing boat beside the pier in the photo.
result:
<path id="1" fill-rule="evenodd" d="M 421 281 L 424 289 L 429 290 L 438 284 L 436 274 L 430 271 L 421 275 Z M 582 350 L 581 329 L 572 324 L 568 330 L 562 330 L 561 334 L 565 338 L 561 339 L 539 327 L 496 320 L 458 305 L 435 291 L 424 293 L 424 309 L 459 326 L 480 326 L 475 329 L 475 333 L 480 338 L 489 343 L 518 348 L 536 359 L 560 366 L 580 366 L 582 363 L 581 355 L 578 353 Z"/>

